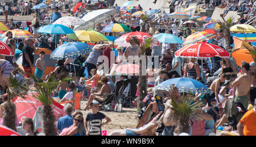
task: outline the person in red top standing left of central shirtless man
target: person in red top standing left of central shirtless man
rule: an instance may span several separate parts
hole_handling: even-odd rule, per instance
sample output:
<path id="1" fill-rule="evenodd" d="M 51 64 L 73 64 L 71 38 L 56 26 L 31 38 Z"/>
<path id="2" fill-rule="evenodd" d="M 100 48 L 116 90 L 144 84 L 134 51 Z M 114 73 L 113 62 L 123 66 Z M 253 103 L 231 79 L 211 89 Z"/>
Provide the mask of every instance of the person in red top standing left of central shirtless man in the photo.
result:
<path id="1" fill-rule="evenodd" d="M 112 48 L 114 47 L 114 45 L 111 41 L 108 41 L 108 44 L 109 45 L 106 48 L 104 48 L 104 50 L 102 51 L 102 56 L 108 57 L 109 61 L 108 62 L 104 61 L 104 68 L 108 67 L 108 69 L 109 69 L 110 66 L 115 63 L 115 58 L 111 60 L 111 58 L 113 57 L 113 56 L 111 56 L 111 52 L 112 52 Z M 114 54 L 114 52 L 113 52 L 113 54 Z"/>

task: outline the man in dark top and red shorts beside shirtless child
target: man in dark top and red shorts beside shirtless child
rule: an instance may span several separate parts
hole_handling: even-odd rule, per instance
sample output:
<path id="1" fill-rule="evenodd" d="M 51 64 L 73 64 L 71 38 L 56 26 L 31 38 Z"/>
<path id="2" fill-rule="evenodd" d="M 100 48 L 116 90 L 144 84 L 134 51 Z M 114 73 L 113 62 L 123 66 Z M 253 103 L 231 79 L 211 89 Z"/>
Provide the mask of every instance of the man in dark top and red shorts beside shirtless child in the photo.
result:
<path id="1" fill-rule="evenodd" d="M 25 77 L 30 78 L 32 75 L 32 66 L 34 64 L 34 54 L 36 48 L 31 39 L 24 40 L 24 47 L 22 49 L 22 67 L 25 72 Z"/>

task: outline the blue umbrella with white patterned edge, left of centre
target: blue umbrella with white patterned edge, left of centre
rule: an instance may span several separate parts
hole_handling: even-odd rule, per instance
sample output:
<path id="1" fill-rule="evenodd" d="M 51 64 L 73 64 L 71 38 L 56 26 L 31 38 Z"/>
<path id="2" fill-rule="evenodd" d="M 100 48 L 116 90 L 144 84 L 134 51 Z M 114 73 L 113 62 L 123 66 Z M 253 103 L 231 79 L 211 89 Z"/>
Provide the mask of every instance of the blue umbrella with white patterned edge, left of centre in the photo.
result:
<path id="1" fill-rule="evenodd" d="M 91 51 L 90 45 L 81 42 L 71 42 L 60 45 L 51 53 L 51 58 L 72 58 L 79 55 L 84 55 Z"/>

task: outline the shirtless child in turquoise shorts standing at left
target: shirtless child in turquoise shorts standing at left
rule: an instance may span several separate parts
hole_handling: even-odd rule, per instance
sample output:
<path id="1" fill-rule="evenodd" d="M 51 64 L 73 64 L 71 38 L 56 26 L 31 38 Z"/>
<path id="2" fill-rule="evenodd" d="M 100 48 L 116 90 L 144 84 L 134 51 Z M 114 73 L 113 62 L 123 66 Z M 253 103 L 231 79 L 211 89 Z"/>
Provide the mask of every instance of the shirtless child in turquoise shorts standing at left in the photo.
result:
<path id="1" fill-rule="evenodd" d="M 38 60 L 36 60 L 36 68 L 35 68 L 35 77 L 36 78 L 39 78 L 39 79 L 42 79 L 43 77 L 43 73 L 46 74 L 46 64 L 43 60 L 44 58 L 44 54 L 46 54 L 45 52 L 40 52 L 39 53 L 39 58 Z"/>

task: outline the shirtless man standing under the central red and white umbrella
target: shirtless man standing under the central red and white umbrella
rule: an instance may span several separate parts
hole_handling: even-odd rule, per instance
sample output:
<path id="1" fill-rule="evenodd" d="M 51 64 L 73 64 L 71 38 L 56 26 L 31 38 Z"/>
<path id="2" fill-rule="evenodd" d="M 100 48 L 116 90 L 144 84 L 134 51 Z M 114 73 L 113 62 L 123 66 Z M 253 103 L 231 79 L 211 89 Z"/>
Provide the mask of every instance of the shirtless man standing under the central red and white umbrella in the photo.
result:
<path id="1" fill-rule="evenodd" d="M 130 46 L 126 48 L 125 50 L 125 57 L 127 58 L 127 60 L 129 60 L 129 58 L 134 57 L 134 56 L 140 56 L 141 55 L 141 48 L 139 47 L 139 45 L 137 45 L 135 43 L 135 39 L 133 37 L 130 38 Z M 131 57 L 129 57 L 131 56 Z M 134 62 L 138 62 L 138 61 L 134 61 Z"/>

